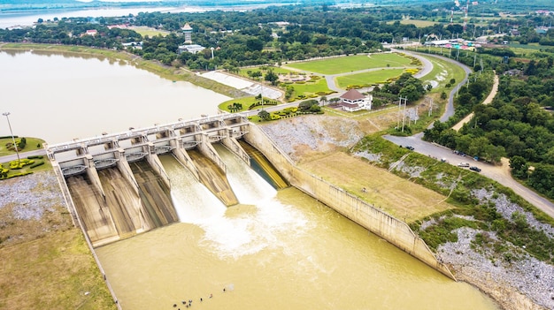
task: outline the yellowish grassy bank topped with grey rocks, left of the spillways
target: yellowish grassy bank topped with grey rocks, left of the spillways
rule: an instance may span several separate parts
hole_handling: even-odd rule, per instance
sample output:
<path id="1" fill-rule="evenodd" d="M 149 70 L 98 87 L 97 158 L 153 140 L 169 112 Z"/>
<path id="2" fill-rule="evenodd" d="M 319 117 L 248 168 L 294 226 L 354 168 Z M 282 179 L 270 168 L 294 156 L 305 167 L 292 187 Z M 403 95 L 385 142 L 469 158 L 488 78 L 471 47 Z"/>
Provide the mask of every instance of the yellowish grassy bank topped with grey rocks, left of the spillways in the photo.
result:
<path id="1" fill-rule="evenodd" d="M 52 177 L 0 181 L 0 196 L 19 197 L 0 204 L 0 308 L 115 309 Z"/>

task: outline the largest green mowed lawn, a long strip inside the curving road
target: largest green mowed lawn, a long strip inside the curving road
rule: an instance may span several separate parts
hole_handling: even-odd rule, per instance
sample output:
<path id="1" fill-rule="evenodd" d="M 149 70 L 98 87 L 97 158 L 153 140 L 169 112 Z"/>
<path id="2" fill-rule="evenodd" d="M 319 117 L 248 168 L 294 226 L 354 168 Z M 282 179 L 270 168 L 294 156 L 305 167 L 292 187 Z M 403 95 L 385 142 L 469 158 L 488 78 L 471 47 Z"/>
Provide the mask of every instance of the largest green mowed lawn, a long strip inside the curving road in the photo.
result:
<path id="1" fill-rule="evenodd" d="M 338 74 L 365 69 L 390 67 L 411 67 L 412 60 L 396 53 L 355 55 L 286 64 L 290 68 L 321 74 Z"/>

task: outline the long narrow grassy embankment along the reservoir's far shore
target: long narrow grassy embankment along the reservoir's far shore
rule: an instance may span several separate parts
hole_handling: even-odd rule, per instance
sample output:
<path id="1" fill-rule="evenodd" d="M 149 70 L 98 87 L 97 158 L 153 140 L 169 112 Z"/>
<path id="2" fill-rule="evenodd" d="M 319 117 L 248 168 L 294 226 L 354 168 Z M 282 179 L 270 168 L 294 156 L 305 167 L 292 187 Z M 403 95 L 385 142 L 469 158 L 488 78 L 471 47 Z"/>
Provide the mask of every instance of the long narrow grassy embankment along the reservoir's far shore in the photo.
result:
<path id="1" fill-rule="evenodd" d="M 1 49 L 5 50 L 35 50 L 35 51 L 48 51 L 53 53 L 74 53 L 75 55 L 91 55 L 95 57 L 106 57 L 111 59 L 119 59 L 127 61 L 128 64 L 135 65 L 135 67 L 144 69 L 146 71 L 157 74 L 158 76 L 169 80 L 183 80 L 195 84 L 199 87 L 211 89 L 222 95 L 237 98 L 243 97 L 246 94 L 233 88 L 227 87 L 227 85 L 220 84 L 212 79 L 205 79 L 196 75 L 194 72 L 190 72 L 183 68 L 174 68 L 159 64 L 158 62 L 144 60 L 141 57 L 137 57 L 133 54 L 129 54 L 125 51 L 117 51 L 111 49 L 93 49 L 82 46 L 67 46 L 67 45 L 49 45 L 49 44 L 31 44 L 31 43 L 6 43 Z"/>

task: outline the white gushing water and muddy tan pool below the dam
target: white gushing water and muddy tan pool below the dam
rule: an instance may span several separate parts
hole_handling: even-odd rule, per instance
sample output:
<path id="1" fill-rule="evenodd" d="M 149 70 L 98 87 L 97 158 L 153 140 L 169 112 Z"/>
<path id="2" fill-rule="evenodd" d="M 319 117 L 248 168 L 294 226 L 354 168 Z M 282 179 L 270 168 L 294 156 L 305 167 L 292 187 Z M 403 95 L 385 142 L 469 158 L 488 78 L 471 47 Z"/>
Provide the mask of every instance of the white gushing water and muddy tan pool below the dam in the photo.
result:
<path id="1" fill-rule="evenodd" d="M 241 204 L 224 207 L 162 156 L 181 222 L 96 249 L 123 309 L 184 309 L 189 299 L 198 309 L 496 309 L 295 188 L 276 192 L 215 147 Z"/>

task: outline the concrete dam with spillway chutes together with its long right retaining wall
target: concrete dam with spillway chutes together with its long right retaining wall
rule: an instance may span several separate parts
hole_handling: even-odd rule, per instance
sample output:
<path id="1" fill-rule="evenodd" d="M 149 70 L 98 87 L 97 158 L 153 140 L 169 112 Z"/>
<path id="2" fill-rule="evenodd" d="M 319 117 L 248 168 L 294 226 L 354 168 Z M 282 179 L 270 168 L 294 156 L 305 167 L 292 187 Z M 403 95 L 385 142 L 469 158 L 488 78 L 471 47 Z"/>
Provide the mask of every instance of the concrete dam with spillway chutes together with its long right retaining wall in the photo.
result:
<path id="1" fill-rule="evenodd" d="M 295 186 L 454 278 L 406 223 L 298 169 L 258 126 L 241 115 L 131 128 L 101 138 L 47 146 L 46 150 L 58 178 L 67 185 L 74 222 L 96 247 L 180 220 L 173 206 L 172 180 L 161 155 L 172 155 L 225 206 L 238 204 L 227 179 L 227 165 L 214 147 L 217 144 L 249 167 L 262 170 L 260 175 L 275 188 Z"/>

